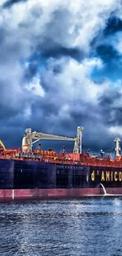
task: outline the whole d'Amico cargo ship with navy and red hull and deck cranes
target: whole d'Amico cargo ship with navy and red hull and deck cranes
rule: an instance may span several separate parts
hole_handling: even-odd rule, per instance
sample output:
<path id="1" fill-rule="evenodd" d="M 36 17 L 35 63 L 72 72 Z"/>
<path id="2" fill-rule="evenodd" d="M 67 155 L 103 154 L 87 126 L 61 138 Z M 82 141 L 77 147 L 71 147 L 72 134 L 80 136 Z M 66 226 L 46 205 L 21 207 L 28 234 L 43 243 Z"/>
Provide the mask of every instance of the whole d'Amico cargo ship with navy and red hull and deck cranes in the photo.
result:
<path id="1" fill-rule="evenodd" d="M 20 149 L 7 149 L 0 140 L 0 199 L 82 198 L 122 195 L 120 139 L 114 139 L 116 157 L 110 151 L 97 156 L 82 150 L 83 127 L 76 138 L 25 130 Z M 72 152 L 43 150 L 41 140 L 74 142 Z M 34 150 L 35 143 L 39 143 Z"/>

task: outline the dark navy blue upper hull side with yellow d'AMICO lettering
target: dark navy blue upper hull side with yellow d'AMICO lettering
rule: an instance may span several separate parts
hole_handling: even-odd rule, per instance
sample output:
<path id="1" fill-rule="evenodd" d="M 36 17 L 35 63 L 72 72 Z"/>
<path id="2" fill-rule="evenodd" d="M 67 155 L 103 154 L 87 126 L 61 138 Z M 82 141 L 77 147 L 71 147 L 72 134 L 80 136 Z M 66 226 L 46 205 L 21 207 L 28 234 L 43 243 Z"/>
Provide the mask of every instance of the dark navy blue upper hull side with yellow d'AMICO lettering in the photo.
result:
<path id="1" fill-rule="evenodd" d="M 0 159 L 0 189 L 122 187 L 120 168 Z"/>

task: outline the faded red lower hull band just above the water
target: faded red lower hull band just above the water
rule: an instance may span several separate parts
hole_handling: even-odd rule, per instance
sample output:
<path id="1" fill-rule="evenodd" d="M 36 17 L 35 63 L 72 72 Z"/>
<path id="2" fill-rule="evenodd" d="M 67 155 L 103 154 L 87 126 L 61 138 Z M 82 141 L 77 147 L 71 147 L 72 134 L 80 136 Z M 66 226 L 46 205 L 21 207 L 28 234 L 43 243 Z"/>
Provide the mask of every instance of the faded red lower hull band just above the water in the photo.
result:
<path id="1" fill-rule="evenodd" d="M 1 189 L 0 200 L 16 199 L 60 199 L 83 197 L 122 196 L 122 187 L 107 187 L 106 193 L 101 187 L 92 188 L 54 188 L 54 189 Z"/>

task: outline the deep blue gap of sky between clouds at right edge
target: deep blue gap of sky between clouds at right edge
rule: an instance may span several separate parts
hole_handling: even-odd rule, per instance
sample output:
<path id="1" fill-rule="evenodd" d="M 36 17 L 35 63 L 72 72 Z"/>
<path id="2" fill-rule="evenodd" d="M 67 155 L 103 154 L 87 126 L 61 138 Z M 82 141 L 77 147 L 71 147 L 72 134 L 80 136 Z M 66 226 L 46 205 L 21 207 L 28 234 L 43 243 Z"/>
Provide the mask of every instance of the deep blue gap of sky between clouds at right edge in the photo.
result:
<path id="1" fill-rule="evenodd" d="M 119 51 L 119 33 L 122 31 L 122 20 L 116 17 L 116 12 L 110 13 L 109 19 L 105 21 L 105 29 L 99 32 L 91 42 L 91 56 L 102 59 L 105 67 L 98 73 L 101 79 L 106 76 L 111 80 L 122 78 L 121 53 Z"/>

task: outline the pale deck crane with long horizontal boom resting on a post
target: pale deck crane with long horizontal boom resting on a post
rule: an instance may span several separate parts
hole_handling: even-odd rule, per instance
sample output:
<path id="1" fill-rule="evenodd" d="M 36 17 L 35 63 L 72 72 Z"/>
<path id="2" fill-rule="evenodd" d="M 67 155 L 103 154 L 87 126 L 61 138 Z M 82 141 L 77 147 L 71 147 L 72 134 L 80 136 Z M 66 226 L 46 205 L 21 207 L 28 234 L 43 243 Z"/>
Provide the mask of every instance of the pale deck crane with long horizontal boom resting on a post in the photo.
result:
<path id="1" fill-rule="evenodd" d="M 70 138 L 65 136 L 47 134 L 43 132 L 31 132 L 31 128 L 27 128 L 25 130 L 26 135 L 24 135 L 22 139 L 22 150 L 23 152 L 32 152 L 32 146 L 34 143 L 38 142 L 41 139 L 46 140 L 61 140 L 61 141 L 74 141 L 74 153 L 82 153 L 82 132 L 83 127 L 77 127 L 77 135 L 76 138 Z"/>

